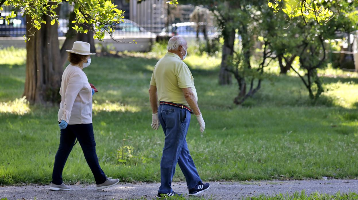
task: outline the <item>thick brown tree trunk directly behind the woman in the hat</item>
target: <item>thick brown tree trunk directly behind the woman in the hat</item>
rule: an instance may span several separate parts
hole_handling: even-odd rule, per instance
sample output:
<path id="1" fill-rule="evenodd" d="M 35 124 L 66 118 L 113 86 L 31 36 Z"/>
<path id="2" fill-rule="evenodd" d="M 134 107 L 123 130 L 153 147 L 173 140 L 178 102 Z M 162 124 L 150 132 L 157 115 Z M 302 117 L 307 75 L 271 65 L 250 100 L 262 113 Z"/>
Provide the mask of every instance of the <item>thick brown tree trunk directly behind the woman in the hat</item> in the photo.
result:
<path id="1" fill-rule="evenodd" d="M 57 8 L 60 9 L 60 6 Z M 56 11 L 58 12 L 58 11 Z M 33 33 L 30 16 L 26 16 L 26 78 L 23 96 L 31 103 L 57 102 L 63 72 L 58 42 L 58 24 L 50 25 L 51 19 L 44 16 L 46 25 Z M 31 30 L 30 30 L 31 29 Z"/>

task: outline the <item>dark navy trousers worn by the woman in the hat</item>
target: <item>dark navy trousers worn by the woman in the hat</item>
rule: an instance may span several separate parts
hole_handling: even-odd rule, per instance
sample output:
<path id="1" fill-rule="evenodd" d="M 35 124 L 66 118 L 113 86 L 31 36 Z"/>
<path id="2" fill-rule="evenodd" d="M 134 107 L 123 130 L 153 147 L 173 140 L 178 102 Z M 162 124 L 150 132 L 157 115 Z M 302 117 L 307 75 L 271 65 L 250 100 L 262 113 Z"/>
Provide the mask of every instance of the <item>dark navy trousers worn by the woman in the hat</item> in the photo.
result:
<path id="1" fill-rule="evenodd" d="M 106 181 L 106 175 L 102 171 L 96 154 L 96 141 L 93 135 L 93 126 L 91 124 L 67 125 L 66 129 L 61 129 L 60 145 L 58 147 L 55 163 L 52 172 L 52 183 L 62 184 L 62 171 L 66 164 L 69 153 L 72 150 L 74 142 L 78 139 L 81 145 L 84 158 L 89 168 L 95 176 L 96 184 L 102 184 Z"/>

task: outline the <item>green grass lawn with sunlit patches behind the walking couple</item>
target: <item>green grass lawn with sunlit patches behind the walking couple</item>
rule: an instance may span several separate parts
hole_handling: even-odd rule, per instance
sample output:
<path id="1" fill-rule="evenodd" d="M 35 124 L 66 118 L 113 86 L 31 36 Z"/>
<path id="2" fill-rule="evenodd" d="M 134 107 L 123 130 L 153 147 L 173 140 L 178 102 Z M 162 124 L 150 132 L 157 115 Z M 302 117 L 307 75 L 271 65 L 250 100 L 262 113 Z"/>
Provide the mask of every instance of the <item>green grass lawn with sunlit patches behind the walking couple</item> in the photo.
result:
<path id="1" fill-rule="evenodd" d="M 59 145 L 58 105 L 29 106 L 21 99 L 25 54 L 0 50 L 5 57 L 0 61 L 0 185 L 49 184 Z M 160 181 L 164 134 L 150 127 L 147 92 L 157 56 L 93 57 L 84 70 L 99 91 L 93 97 L 93 126 L 100 164 L 121 181 Z M 357 76 L 326 71 L 335 73 L 324 77 L 329 90 L 313 103 L 299 77 L 271 72 L 272 81 L 265 80 L 254 98 L 237 106 L 237 84 L 217 84 L 220 61 L 205 55 L 185 60 L 206 122 L 200 133 L 192 117 L 187 136 L 204 181 L 358 177 Z M 94 182 L 78 144 L 63 178 L 67 184 Z M 178 167 L 174 181 L 179 180 L 185 179 Z"/>

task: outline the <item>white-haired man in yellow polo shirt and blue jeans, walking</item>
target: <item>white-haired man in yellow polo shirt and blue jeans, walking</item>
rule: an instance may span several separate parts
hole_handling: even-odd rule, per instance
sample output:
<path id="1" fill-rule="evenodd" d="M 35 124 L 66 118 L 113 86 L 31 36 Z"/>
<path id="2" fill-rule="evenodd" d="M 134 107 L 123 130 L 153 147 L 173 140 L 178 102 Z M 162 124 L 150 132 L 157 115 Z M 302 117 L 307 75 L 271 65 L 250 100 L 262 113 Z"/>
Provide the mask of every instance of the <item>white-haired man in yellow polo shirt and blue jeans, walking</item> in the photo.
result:
<path id="1" fill-rule="evenodd" d="M 168 53 L 154 67 L 149 88 L 153 111 L 151 126 L 157 130 L 160 123 L 165 134 L 160 161 L 161 184 L 157 196 L 177 194 L 171 189 L 176 163 L 187 180 L 189 195 L 197 195 L 208 190 L 210 184 L 204 184 L 200 179 L 185 137 L 190 114 L 196 115 L 201 132 L 205 129 L 205 122 L 197 104 L 193 75 L 183 62 L 187 56 L 187 42 L 180 36 L 173 36 L 167 49 Z"/>

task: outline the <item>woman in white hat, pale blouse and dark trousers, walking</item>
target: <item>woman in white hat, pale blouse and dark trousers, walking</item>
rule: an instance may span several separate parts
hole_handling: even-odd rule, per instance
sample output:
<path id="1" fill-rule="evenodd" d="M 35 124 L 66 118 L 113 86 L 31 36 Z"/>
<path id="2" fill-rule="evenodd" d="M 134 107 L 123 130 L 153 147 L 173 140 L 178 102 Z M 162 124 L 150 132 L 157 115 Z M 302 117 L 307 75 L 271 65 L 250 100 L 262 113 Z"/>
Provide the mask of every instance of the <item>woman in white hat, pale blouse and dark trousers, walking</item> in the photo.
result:
<path id="1" fill-rule="evenodd" d="M 62 181 L 62 171 L 69 153 L 77 138 L 84 157 L 91 169 L 97 184 L 96 189 L 112 187 L 119 179 L 107 178 L 102 171 L 96 154 L 96 142 L 92 127 L 92 95 L 94 89 L 89 85 L 84 67 L 91 64 L 90 44 L 76 41 L 72 50 L 68 51 L 71 62 L 63 72 L 61 82 L 61 103 L 58 111 L 58 122 L 61 129 L 60 145 L 58 147 L 52 173 L 50 190 L 71 190 Z"/>

